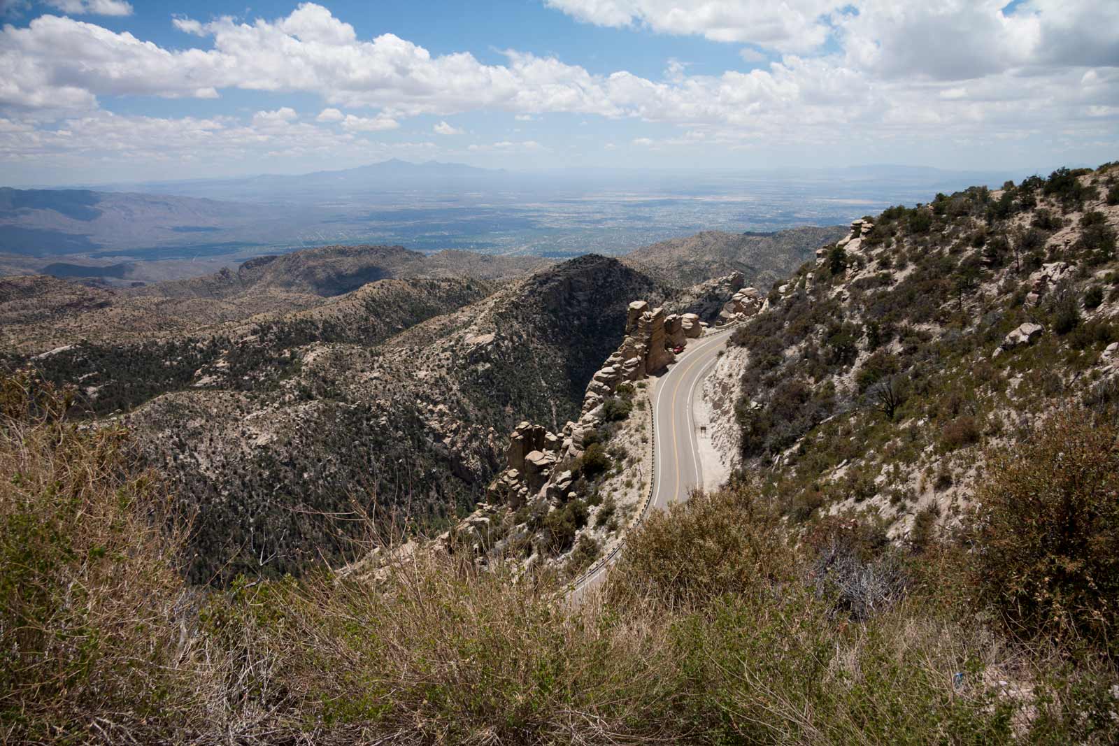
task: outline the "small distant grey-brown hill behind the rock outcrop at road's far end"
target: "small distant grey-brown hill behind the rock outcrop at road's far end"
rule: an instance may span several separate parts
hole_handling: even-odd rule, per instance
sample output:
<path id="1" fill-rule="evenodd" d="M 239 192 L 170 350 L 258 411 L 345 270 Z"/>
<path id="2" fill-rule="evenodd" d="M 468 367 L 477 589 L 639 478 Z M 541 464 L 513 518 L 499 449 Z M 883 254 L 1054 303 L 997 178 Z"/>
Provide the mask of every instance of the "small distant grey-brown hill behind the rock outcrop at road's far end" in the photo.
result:
<path id="1" fill-rule="evenodd" d="M 622 261 L 675 286 L 694 285 L 740 272 L 747 284 L 769 289 L 812 253 L 843 237 L 845 228 L 803 227 L 770 234 L 704 230 L 662 240 L 627 254 Z"/>

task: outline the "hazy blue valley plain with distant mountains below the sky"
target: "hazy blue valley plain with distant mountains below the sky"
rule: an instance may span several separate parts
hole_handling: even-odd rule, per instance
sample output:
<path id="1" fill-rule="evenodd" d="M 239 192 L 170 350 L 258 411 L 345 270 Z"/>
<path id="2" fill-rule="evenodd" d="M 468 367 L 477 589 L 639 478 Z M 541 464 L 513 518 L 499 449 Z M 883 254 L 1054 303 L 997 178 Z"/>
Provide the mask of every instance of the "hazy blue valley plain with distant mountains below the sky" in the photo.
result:
<path id="1" fill-rule="evenodd" d="M 528 173 L 393 160 L 304 176 L 3 189 L 0 272 L 152 282 L 333 244 L 615 256 L 700 230 L 846 224 L 1022 176 L 906 167 Z"/>

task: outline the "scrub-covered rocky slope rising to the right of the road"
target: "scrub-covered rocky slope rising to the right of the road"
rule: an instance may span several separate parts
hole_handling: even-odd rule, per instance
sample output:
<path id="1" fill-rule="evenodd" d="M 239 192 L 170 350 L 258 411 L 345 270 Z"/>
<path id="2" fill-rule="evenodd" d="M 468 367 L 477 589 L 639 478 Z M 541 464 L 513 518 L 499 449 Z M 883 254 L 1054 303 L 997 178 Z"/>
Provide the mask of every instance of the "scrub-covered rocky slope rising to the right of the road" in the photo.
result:
<path id="1" fill-rule="evenodd" d="M 805 530 L 928 540 L 984 447 L 1119 398 L 1117 228 L 1115 164 L 856 221 L 736 333 L 705 393 L 718 438 Z"/>

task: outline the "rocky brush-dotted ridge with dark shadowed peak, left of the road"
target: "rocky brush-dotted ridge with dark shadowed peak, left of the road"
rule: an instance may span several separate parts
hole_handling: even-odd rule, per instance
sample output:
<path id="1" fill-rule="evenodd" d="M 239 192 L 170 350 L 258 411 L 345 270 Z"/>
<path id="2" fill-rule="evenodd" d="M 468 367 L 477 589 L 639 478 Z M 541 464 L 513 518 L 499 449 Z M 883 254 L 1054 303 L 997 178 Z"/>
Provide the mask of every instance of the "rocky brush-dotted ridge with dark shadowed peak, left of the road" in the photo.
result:
<path id="1" fill-rule="evenodd" d="M 189 386 L 126 417 L 147 462 L 197 511 L 194 579 L 338 561 L 363 526 L 357 514 L 379 527 L 438 527 L 469 510 L 513 425 L 577 416 L 628 299 L 662 293 L 589 255 L 383 343 L 363 337 L 366 314 L 385 304 L 378 289 L 403 282 L 454 281 L 380 281 L 262 320 L 186 366 Z"/>

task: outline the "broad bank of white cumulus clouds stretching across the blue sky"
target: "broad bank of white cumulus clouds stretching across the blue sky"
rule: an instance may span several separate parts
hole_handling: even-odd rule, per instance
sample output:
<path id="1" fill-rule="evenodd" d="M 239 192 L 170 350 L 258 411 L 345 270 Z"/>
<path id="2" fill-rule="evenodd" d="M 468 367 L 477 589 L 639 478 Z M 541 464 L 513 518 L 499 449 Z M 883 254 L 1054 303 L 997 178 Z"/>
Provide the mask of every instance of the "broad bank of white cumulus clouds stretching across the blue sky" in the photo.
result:
<path id="1" fill-rule="evenodd" d="M 773 62 L 747 72 L 709 72 L 666 60 L 658 79 L 624 69 L 591 73 L 517 50 L 504 51 L 501 64 L 483 64 L 469 51 L 433 54 L 392 34 L 363 39 L 351 25 L 310 2 L 274 19 L 175 18 L 176 28 L 196 37 L 187 41 L 197 46 L 185 48 L 44 15 L 0 28 L 0 117 L 20 128 L 11 142 L 40 155 L 48 145 L 72 152 L 75 139 L 96 136 L 106 122 L 137 136 L 182 133 L 185 143 L 194 143 L 200 132 L 218 132 L 223 143 L 265 138 L 282 140 L 278 150 L 310 152 L 345 150 L 354 138 L 368 142 L 366 133 L 399 128 L 410 116 L 471 111 L 507 112 L 517 121 L 545 113 L 579 115 L 573 121 L 596 115 L 675 125 L 685 133 L 658 134 L 656 143 L 634 141 L 657 148 L 1014 141 L 1037 132 L 1060 132 L 1070 141 L 1117 139 L 1119 2 L 1024 0 L 1007 11 L 1004 0 L 548 4 L 586 22 L 703 36 L 736 45 L 745 62 Z M 213 98 L 229 89 L 275 94 L 269 105 L 278 108 L 258 112 L 247 124 L 184 117 L 181 126 L 161 117 L 106 117 L 100 110 L 106 97 Z M 286 93 L 317 96 L 325 108 L 308 115 L 313 121 L 301 121 L 283 106 Z M 438 121 L 434 133 L 459 133 Z M 218 128 L 200 130 L 199 122 Z M 632 134 L 610 136 L 624 142 Z M 493 153 L 534 148 L 546 150 L 537 141 L 472 147 Z M 19 157 L 13 144 L 3 152 Z"/>

